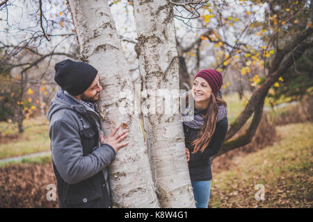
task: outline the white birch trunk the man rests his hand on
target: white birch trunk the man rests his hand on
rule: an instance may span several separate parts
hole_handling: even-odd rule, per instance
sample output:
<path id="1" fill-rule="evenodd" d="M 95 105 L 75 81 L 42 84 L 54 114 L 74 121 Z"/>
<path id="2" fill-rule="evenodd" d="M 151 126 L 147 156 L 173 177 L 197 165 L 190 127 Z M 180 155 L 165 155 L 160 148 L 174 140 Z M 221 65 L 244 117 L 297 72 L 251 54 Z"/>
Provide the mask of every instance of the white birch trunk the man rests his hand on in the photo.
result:
<path id="1" fill-rule="evenodd" d="M 76 27 L 80 58 L 99 71 L 102 129 L 106 136 L 115 124 L 124 123 L 129 130 L 129 144 L 118 151 L 109 170 L 113 205 L 159 207 L 143 132 L 134 114 L 134 87 L 109 5 L 106 0 L 68 0 L 67 6 Z"/>

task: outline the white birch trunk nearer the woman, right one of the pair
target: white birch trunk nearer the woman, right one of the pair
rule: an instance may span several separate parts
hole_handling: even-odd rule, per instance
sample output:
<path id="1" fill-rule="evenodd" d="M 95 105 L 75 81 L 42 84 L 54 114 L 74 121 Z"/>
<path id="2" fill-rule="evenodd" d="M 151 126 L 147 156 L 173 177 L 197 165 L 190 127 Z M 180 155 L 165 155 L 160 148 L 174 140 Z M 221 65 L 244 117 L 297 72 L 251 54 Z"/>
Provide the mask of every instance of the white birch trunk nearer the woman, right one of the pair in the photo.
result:
<path id="1" fill-rule="evenodd" d="M 165 101 L 163 106 L 160 97 L 155 101 L 157 92 L 179 93 L 173 8 L 166 0 L 134 0 L 134 17 L 142 90 L 147 92 L 141 108 L 157 196 L 161 207 L 195 207 L 181 116 L 178 111 L 162 112 L 174 104 Z"/>

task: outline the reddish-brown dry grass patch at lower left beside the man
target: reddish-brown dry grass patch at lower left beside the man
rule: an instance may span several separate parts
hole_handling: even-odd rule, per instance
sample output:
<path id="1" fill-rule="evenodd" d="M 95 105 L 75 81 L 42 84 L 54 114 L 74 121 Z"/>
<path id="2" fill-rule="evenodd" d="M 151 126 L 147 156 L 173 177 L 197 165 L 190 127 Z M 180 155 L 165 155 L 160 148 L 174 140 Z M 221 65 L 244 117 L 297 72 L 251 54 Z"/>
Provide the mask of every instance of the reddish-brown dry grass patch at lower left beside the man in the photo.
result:
<path id="1" fill-rule="evenodd" d="M 58 207 L 47 200 L 47 185 L 56 185 L 51 162 L 45 164 L 9 164 L 0 168 L 0 208 Z"/>

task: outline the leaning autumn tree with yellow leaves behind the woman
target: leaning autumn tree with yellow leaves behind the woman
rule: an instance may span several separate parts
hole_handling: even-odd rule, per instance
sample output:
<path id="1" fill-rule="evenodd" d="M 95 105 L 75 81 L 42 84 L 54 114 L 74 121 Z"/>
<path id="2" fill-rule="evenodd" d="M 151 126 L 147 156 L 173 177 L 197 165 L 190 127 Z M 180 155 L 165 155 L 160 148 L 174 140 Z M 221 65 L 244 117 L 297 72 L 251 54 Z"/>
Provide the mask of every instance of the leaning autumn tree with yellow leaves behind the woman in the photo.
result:
<path id="1" fill-rule="evenodd" d="M 184 5 L 177 2 L 177 6 Z M 191 72 L 196 74 L 201 67 L 209 66 L 221 71 L 224 79 L 226 74 L 240 75 L 237 78 L 248 82 L 252 91 L 243 112 L 230 124 L 221 155 L 252 140 L 268 91 L 278 89 L 287 70 L 312 48 L 312 2 L 210 1 L 194 15 L 200 16 L 192 21 L 188 17 L 181 19 L 196 30 L 190 34 L 195 37 L 186 44 L 184 38 L 188 35 L 183 33 L 177 40 L 187 67 L 191 64 Z M 208 57 L 211 62 L 204 62 Z M 224 83 L 222 89 L 228 85 Z M 250 117 L 246 133 L 232 139 Z"/>

